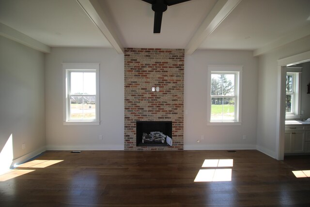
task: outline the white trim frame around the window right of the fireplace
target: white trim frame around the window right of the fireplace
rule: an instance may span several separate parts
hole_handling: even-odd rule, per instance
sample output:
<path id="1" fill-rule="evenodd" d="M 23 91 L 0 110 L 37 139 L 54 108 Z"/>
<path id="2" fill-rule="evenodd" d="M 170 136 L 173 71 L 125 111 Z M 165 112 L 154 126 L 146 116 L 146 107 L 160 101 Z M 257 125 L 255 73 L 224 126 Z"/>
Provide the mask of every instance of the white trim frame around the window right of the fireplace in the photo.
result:
<path id="1" fill-rule="evenodd" d="M 208 73 L 207 73 L 207 125 L 218 125 L 218 126 L 238 126 L 241 125 L 241 103 L 242 103 L 242 70 L 243 66 L 241 65 L 209 65 L 208 66 Z M 231 122 L 211 122 L 211 73 L 212 72 L 227 72 L 232 73 L 236 72 L 237 81 L 235 82 L 236 88 L 236 99 L 235 100 L 235 107 L 236 111 L 235 114 L 237 116 L 236 121 Z"/>

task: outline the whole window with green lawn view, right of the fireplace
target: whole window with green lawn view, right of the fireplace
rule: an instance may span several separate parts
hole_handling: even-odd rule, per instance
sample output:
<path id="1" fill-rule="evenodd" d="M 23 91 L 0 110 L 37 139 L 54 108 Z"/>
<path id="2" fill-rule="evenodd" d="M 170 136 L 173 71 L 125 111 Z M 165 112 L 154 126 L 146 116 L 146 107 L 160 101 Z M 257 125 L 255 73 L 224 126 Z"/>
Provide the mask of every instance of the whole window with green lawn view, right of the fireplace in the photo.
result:
<path id="1" fill-rule="evenodd" d="M 242 66 L 208 67 L 207 123 L 240 125 Z"/>

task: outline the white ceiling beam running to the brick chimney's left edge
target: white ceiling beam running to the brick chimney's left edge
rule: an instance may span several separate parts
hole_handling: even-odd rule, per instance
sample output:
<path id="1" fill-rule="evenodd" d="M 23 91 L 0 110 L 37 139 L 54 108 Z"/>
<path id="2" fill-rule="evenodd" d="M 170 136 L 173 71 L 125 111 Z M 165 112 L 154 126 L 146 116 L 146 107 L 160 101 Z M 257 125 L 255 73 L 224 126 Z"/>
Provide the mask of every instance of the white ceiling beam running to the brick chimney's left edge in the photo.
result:
<path id="1" fill-rule="evenodd" d="M 117 53 L 124 54 L 124 47 L 109 23 L 108 17 L 103 12 L 98 0 L 77 0 L 77 2 L 93 21 L 95 26 L 108 39 L 109 43 Z"/>

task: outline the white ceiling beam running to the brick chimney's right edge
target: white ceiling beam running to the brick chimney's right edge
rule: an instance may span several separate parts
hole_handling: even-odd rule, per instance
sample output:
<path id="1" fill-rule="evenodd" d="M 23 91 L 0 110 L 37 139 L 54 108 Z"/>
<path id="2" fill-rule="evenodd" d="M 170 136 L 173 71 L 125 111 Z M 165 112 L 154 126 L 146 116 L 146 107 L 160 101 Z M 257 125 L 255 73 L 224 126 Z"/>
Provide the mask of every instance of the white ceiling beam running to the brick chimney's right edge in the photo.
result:
<path id="1" fill-rule="evenodd" d="M 192 54 L 240 2 L 241 0 L 218 0 L 188 42 L 186 55 Z"/>

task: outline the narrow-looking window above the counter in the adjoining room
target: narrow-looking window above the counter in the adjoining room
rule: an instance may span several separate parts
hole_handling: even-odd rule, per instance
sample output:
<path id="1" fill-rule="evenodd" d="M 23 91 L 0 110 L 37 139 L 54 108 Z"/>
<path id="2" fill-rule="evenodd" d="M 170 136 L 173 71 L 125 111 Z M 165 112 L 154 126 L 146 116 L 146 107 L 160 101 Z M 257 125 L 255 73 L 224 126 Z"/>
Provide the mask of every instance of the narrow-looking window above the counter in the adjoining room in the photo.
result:
<path id="1" fill-rule="evenodd" d="M 294 69 L 291 67 L 288 71 L 294 71 Z M 286 119 L 300 118 L 300 76 L 299 72 L 286 73 Z"/>

